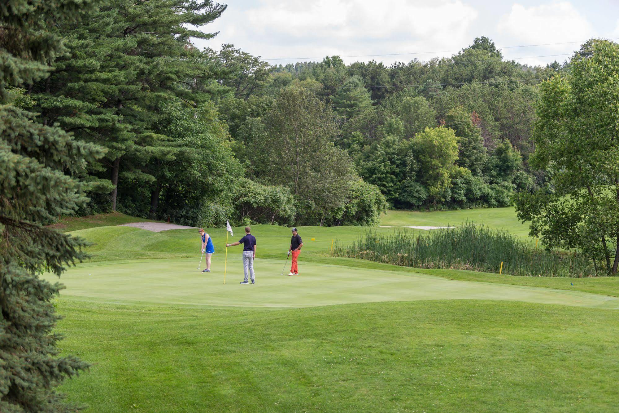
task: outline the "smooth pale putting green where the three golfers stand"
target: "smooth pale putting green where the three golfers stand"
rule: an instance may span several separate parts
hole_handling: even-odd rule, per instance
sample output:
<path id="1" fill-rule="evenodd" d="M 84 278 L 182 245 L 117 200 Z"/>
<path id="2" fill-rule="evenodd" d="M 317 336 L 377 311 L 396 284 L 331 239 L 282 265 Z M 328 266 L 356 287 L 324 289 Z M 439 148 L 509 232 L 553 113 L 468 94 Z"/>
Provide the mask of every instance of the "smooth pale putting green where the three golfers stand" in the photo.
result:
<path id="1" fill-rule="evenodd" d="M 195 259 L 90 262 L 67 270 L 63 297 L 118 304 L 294 308 L 329 304 L 414 300 L 506 300 L 619 309 L 619 298 L 534 286 L 448 280 L 410 272 L 300 262 L 301 275 L 280 275 L 283 260 L 257 259 L 256 285 L 240 285 L 238 254 L 223 257 L 211 273 L 196 270 Z M 288 263 L 289 264 L 289 263 Z M 204 267 L 203 267 L 204 268 Z M 288 270 L 289 266 L 287 267 Z M 53 280 L 55 277 L 46 275 Z"/>

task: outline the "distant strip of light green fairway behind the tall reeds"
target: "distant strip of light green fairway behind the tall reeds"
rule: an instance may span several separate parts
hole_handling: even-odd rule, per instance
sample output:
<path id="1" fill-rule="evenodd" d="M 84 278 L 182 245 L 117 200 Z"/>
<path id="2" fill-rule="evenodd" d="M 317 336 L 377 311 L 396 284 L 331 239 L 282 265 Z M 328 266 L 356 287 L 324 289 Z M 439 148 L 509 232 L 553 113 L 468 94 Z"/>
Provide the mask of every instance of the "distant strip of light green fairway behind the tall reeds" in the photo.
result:
<path id="1" fill-rule="evenodd" d="M 382 218 L 381 225 L 387 226 L 449 226 L 474 222 L 491 229 L 506 229 L 521 238 L 529 236 L 529 224 L 518 220 L 513 207 L 433 212 L 392 210 Z"/>

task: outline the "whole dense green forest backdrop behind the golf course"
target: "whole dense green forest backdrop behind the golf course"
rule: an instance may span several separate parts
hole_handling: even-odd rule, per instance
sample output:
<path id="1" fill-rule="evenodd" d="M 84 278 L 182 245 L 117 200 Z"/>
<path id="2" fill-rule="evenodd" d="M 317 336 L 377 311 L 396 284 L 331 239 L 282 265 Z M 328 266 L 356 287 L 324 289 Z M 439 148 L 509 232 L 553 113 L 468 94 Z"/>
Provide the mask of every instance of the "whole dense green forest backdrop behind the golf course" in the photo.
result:
<path id="1" fill-rule="evenodd" d="M 534 103 L 565 65 L 506 61 L 482 37 L 388 67 L 271 66 L 233 45 L 194 47 L 224 11 L 106 0 L 50 27 L 64 53 L 9 92 L 37 122 L 105 149 L 80 172 L 80 214 L 375 225 L 387 207 L 503 207 L 547 185 L 529 165 Z"/>

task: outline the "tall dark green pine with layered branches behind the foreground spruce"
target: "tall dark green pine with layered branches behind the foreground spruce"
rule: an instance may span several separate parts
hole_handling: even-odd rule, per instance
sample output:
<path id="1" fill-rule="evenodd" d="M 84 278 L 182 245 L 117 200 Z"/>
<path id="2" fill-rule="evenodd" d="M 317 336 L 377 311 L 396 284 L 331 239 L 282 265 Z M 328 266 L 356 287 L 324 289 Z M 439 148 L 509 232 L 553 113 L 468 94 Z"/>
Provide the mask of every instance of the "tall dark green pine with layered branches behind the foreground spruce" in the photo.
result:
<path id="1" fill-rule="evenodd" d="M 212 0 L 107 0 L 79 26 L 58 26 L 70 33 L 70 54 L 36 85 L 38 110 L 43 122 L 59 122 L 79 140 L 108 149 L 91 172 L 106 180 L 98 183 L 111 191 L 112 210 L 119 179 L 152 184 L 144 165 L 169 156 L 167 138 L 152 129 L 158 102 L 180 97 L 196 105 L 217 90 L 212 63 L 190 40 L 214 35 L 188 26 L 205 25 L 224 10 Z"/>

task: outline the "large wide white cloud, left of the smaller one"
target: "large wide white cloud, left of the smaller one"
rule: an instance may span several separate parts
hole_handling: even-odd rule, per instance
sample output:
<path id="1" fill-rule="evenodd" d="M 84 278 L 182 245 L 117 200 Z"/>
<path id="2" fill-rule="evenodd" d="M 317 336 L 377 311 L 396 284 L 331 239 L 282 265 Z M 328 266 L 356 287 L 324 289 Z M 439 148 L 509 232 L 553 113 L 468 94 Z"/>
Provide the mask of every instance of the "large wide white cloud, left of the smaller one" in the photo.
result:
<path id="1" fill-rule="evenodd" d="M 207 26 L 262 58 L 371 55 L 451 50 L 472 42 L 478 13 L 462 0 L 261 0 Z M 230 17 L 230 16 L 228 16 Z M 225 22 L 225 24 L 224 24 Z M 209 42 L 212 47 L 213 41 Z M 451 53 L 443 53 L 451 55 Z M 434 55 L 384 56 L 385 63 Z M 347 63 L 355 60 L 345 58 Z M 280 61 L 271 61 L 280 63 Z M 287 63 L 287 61 L 281 61 Z"/>

